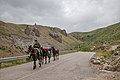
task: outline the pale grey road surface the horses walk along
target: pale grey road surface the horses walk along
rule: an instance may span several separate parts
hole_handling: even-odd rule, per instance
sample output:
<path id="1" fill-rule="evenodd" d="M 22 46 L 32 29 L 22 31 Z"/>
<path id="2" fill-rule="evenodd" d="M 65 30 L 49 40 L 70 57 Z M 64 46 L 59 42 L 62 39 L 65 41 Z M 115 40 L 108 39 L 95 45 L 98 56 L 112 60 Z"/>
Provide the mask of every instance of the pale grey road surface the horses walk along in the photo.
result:
<path id="1" fill-rule="evenodd" d="M 102 80 L 94 74 L 89 58 L 93 52 L 76 52 L 60 56 L 60 60 L 37 66 L 26 63 L 0 70 L 0 80 Z"/>

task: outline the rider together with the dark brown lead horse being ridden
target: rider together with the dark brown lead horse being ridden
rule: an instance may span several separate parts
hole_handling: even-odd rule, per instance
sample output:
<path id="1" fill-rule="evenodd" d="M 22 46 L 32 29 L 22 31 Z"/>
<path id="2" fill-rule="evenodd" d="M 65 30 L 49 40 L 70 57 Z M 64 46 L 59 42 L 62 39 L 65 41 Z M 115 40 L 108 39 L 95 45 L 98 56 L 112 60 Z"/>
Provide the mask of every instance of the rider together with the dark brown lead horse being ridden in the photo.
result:
<path id="1" fill-rule="evenodd" d="M 37 59 L 38 59 L 38 62 L 39 62 L 39 67 L 41 67 L 41 60 L 40 60 L 41 55 L 39 54 L 39 48 L 40 48 L 40 44 L 37 42 L 37 40 L 35 40 L 35 44 L 33 45 L 33 47 L 32 47 L 32 45 L 30 45 L 28 47 L 27 53 L 28 54 L 30 53 L 29 58 L 32 57 L 32 59 L 34 61 L 33 69 L 36 69 Z"/>

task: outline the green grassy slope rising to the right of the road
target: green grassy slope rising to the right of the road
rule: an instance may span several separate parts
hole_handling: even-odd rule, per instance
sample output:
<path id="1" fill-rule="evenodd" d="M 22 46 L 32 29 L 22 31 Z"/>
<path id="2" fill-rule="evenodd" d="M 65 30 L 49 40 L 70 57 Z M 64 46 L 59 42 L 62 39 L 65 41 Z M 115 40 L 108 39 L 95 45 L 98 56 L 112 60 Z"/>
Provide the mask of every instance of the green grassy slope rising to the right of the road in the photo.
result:
<path id="1" fill-rule="evenodd" d="M 70 35 L 74 35 L 82 41 L 80 44 L 81 51 L 90 51 L 91 47 L 101 46 L 103 43 L 116 45 L 120 43 L 120 23 L 90 32 L 73 32 Z"/>

